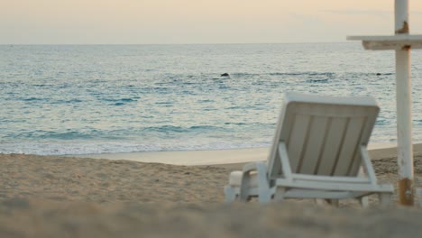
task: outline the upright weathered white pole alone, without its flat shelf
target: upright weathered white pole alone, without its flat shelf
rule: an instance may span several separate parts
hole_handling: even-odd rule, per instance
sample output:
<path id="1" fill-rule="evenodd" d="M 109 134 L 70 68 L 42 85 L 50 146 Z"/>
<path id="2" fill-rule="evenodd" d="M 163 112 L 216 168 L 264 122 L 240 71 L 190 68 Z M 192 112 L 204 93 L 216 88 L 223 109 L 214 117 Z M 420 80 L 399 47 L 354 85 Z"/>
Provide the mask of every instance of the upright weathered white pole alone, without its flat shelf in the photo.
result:
<path id="1" fill-rule="evenodd" d="M 396 34 L 408 34 L 408 0 L 395 0 Z M 410 46 L 396 50 L 399 204 L 413 205 L 413 144 Z"/>

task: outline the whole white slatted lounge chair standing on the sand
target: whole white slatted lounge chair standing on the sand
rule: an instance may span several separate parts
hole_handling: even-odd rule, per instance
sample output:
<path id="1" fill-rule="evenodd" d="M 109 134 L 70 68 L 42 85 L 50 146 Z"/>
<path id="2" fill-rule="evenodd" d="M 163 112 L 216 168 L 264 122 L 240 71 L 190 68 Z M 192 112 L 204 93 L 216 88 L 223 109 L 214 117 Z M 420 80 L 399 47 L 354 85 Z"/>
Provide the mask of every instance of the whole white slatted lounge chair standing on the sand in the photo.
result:
<path id="1" fill-rule="evenodd" d="M 284 198 L 357 198 L 378 194 L 390 203 L 393 186 L 379 185 L 367 144 L 380 111 L 372 97 L 288 93 L 266 162 L 230 174 L 225 200 L 261 203 Z"/>

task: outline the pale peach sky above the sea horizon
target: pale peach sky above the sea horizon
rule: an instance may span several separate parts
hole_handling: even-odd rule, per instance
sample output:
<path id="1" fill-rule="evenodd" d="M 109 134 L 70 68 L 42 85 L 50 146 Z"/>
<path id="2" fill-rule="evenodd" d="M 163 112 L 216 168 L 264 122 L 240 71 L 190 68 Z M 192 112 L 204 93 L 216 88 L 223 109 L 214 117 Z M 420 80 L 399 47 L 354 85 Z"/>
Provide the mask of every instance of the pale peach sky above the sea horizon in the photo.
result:
<path id="1" fill-rule="evenodd" d="M 422 1 L 409 0 L 422 33 Z M 0 0 L 0 44 L 278 43 L 392 34 L 394 0 Z"/>

